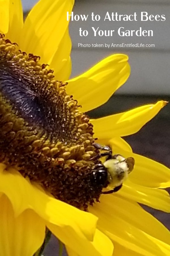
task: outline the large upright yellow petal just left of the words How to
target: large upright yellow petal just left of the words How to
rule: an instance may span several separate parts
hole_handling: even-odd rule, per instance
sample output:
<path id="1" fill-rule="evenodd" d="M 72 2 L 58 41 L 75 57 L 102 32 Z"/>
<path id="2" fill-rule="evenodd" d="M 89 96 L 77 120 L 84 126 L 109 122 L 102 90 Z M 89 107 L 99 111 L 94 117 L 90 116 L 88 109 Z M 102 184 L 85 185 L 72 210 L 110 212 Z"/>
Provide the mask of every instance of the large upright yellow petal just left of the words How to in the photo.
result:
<path id="1" fill-rule="evenodd" d="M 20 40 L 21 49 L 27 53 L 39 55 L 41 63 L 47 64 L 50 64 L 56 54 L 55 66 L 59 70 L 62 65 L 59 62 L 62 59 L 61 56 L 65 58 L 65 49 L 61 47 L 61 40 L 69 24 L 67 11 L 71 13 L 73 4 L 74 0 L 40 0 L 25 20 Z M 70 48 L 68 34 L 65 40 L 68 40 L 68 48 Z M 68 54 L 68 49 L 66 52 Z"/>

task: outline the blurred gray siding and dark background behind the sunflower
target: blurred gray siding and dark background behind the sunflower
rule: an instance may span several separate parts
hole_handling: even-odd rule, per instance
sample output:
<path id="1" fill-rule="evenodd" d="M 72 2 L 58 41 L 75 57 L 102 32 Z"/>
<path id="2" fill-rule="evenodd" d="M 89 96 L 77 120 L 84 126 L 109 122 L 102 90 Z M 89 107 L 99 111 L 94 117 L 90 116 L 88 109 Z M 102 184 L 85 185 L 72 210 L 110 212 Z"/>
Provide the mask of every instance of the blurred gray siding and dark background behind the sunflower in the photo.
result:
<path id="1" fill-rule="evenodd" d="M 48 1 L 48 0 L 47 0 Z M 24 12 L 26 13 L 37 1 L 22 0 Z M 126 53 L 129 55 L 131 65 L 131 76 L 110 100 L 88 114 L 90 117 L 101 117 L 112 113 L 141 106 L 143 104 L 155 103 L 157 100 L 170 101 L 170 1 L 169 0 L 77 0 L 73 9 L 74 15 L 99 14 L 101 20 L 92 22 L 91 18 L 86 22 L 70 22 L 70 34 L 73 43 L 72 77 L 78 75 L 113 53 Z M 109 11 L 118 14 L 137 13 L 138 21 L 105 21 L 103 19 Z M 148 12 L 148 15 L 165 15 L 165 21 L 140 21 L 140 13 Z M 91 27 L 94 26 L 105 30 L 119 27 L 137 30 L 142 27 L 144 30 L 153 30 L 153 37 L 120 37 L 115 32 L 114 37 L 93 36 Z M 79 28 L 89 31 L 87 37 L 79 36 Z M 155 44 L 154 48 L 78 48 L 82 44 L 129 44 L 143 43 Z M 131 144 L 133 151 L 143 154 L 149 158 L 159 161 L 170 167 L 170 104 L 167 105 L 154 119 L 152 119 L 141 131 L 135 135 L 126 137 Z M 158 210 L 145 207 L 151 214 L 158 218 L 170 230 L 170 216 Z M 130 210 L 130 209 L 129 209 Z M 57 255 L 58 244 L 52 238 L 45 256 Z"/>

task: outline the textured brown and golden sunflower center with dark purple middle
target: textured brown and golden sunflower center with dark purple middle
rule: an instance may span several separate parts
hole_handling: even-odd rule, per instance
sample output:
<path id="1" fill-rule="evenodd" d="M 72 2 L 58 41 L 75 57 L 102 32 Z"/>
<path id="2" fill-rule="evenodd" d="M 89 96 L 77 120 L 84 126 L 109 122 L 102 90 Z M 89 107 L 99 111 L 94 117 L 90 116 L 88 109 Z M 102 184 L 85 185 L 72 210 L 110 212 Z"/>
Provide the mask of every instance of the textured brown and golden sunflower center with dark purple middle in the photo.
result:
<path id="1" fill-rule="evenodd" d="M 67 83 L 0 35 L 0 161 L 78 208 L 98 200 L 93 127 Z"/>

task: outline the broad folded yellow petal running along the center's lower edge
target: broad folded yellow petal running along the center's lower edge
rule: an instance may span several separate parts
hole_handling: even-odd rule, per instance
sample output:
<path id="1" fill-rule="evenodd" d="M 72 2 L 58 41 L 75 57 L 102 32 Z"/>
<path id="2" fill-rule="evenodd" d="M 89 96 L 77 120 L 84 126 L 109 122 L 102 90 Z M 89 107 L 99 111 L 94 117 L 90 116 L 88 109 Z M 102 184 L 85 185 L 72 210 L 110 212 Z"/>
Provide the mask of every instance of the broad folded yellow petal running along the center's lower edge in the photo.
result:
<path id="1" fill-rule="evenodd" d="M 16 216 L 30 208 L 47 223 L 62 228 L 65 234 L 76 234 L 77 240 L 93 240 L 97 222 L 95 216 L 48 196 L 13 168 L 4 169 L 5 165 L 0 164 L 0 192 L 10 199 Z"/>

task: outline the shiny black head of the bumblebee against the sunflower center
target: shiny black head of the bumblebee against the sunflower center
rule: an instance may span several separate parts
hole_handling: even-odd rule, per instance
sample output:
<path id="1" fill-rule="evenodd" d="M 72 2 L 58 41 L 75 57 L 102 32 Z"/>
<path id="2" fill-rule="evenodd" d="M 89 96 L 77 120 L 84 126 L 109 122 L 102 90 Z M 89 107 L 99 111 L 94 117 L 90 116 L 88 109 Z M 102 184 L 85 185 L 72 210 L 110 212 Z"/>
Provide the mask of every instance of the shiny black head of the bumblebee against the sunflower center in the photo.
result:
<path id="1" fill-rule="evenodd" d="M 94 170 L 93 171 L 93 179 L 95 184 L 102 187 L 107 187 L 108 185 L 108 174 L 107 170 Z"/>

